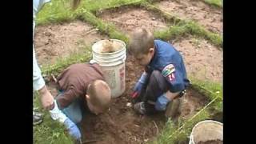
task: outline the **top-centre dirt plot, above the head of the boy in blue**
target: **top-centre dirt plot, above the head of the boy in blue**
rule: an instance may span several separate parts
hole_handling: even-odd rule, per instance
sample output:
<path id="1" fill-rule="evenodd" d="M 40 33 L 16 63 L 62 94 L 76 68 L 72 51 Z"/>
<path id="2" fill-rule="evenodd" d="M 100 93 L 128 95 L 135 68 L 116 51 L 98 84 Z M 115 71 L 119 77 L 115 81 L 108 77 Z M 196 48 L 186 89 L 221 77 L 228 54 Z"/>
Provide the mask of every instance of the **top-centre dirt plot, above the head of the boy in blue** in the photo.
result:
<path id="1" fill-rule="evenodd" d="M 99 17 L 104 21 L 113 22 L 115 26 L 125 34 L 137 28 L 145 28 L 153 32 L 167 28 L 164 18 L 148 10 L 136 7 L 117 8 L 115 10 L 104 10 Z"/>

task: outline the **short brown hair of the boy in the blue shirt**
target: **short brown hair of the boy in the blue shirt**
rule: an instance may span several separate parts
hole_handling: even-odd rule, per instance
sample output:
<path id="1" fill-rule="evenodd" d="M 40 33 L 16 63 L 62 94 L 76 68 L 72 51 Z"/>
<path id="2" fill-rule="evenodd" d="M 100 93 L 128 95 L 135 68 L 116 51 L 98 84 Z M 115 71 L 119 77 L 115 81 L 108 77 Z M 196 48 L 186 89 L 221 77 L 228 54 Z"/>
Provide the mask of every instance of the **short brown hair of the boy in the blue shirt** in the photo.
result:
<path id="1" fill-rule="evenodd" d="M 131 54 L 147 54 L 150 48 L 154 48 L 153 34 L 144 28 L 135 30 L 129 46 Z"/>

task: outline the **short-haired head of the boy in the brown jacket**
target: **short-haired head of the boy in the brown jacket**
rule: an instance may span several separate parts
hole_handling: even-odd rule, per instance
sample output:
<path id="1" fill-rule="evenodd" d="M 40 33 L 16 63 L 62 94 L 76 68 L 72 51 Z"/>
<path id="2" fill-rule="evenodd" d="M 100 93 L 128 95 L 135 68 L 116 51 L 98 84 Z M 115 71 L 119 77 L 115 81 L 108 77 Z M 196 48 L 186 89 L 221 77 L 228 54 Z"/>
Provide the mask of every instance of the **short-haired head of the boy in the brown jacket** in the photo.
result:
<path id="1" fill-rule="evenodd" d="M 101 110 L 106 110 L 110 106 L 111 90 L 110 86 L 102 80 L 90 82 L 87 94 L 90 95 L 90 102 Z"/>

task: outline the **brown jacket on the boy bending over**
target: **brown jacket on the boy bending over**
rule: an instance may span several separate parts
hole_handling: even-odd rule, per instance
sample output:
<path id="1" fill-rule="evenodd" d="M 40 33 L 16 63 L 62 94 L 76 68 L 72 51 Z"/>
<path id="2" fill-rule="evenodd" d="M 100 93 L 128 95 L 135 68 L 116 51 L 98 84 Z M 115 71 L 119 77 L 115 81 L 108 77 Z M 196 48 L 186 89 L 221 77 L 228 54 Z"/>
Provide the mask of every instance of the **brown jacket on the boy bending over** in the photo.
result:
<path id="1" fill-rule="evenodd" d="M 102 70 L 96 63 L 78 63 L 66 68 L 57 78 L 58 89 L 64 91 L 56 99 L 59 108 L 69 106 L 75 98 L 85 98 L 88 84 L 97 79 L 104 80 Z"/>

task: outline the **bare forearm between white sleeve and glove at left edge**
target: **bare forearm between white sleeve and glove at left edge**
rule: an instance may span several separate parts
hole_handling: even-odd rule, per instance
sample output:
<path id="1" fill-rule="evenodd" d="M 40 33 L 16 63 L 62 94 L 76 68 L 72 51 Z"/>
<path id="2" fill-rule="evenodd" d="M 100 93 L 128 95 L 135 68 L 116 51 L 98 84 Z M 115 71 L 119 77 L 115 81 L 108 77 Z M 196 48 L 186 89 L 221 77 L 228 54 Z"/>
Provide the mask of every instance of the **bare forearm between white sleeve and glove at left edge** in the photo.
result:
<path id="1" fill-rule="evenodd" d="M 50 91 L 47 90 L 46 86 L 43 86 L 42 89 L 39 90 L 39 98 L 45 110 L 51 110 L 53 108 L 54 97 L 50 94 Z"/>

